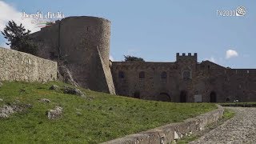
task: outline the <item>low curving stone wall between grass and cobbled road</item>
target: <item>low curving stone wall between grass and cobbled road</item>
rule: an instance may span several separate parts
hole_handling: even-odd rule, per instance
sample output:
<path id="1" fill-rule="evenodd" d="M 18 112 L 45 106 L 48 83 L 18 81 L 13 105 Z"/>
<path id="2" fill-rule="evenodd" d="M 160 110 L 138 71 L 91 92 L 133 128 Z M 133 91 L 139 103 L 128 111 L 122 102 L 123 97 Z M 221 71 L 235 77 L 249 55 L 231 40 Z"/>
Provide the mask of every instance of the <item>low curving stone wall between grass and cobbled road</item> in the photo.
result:
<path id="1" fill-rule="evenodd" d="M 104 144 L 171 143 L 175 139 L 182 138 L 185 135 L 204 130 L 206 125 L 217 122 L 219 118 L 222 118 L 223 112 L 224 109 L 222 106 L 218 106 L 217 110 L 201 114 L 196 118 L 189 118 L 184 122 L 171 123 L 138 134 L 130 134 L 124 138 L 117 138 L 109 142 L 104 142 Z"/>

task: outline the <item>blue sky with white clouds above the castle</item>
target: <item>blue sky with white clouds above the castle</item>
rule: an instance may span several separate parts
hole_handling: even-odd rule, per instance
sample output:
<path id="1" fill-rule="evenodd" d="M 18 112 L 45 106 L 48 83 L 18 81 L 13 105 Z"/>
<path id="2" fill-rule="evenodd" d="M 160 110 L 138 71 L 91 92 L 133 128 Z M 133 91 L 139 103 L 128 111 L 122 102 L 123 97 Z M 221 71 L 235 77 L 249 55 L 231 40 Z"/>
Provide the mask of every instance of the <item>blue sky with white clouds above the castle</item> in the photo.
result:
<path id="1" fill-rule="evenodd" d="M 246 8 L 244 16 L 217 12 Z M 40 30 L 22 12 L 68 16 L 89 15 L 111 21 L 110 57 L 130 54 L 153 62 L 174 62 L 176 53 L 198 53 L 231 68 L 256 68 L 256 1 L 241 0 L 0 0 L 0 30 L 13 19 Z M 223 14 L 223 13 L 222 13 Z M 0 36 L 0 46 L 5 46 Z M 6 46 L 5 46 L 6 47 Z"/>

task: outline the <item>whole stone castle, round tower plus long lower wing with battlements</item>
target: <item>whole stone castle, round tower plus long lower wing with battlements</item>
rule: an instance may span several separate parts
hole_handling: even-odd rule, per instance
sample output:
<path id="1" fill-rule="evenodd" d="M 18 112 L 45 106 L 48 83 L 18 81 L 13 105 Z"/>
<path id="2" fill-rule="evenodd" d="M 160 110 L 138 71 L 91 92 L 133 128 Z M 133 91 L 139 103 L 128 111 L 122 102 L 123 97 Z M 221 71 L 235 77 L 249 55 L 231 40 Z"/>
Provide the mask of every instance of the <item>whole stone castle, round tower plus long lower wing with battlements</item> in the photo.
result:
<path id="1" fill-rule="evenodd" d="M 111 62 L 104 18 L 63 18 L 31 36 L 39 57 L 62 58 L 74 82 L 90 90 L 165 102 L 256 101 L 256 69 L 198 62 L 197 53 L 177 53 L 176 62 Z"/>

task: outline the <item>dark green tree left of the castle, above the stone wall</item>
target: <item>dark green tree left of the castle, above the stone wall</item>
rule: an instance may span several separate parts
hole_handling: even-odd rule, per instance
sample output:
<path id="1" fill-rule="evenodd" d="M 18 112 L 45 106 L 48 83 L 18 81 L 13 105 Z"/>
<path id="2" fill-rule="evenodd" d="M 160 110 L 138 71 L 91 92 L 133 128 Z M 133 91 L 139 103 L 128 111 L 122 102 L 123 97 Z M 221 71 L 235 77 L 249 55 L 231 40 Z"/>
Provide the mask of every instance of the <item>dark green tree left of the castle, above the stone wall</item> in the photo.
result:
<path id="1" fill-rule="evenodd" d="M 8 40 L 6 45 L 10 45 L 10 49 L 22 51 L 28 54 L 38 54 L 38 47 L 30 38 L 30 30 L 26 30 L 22 23 L 18 26 L 14 21 L 9 21 L 1 33 Z"/>

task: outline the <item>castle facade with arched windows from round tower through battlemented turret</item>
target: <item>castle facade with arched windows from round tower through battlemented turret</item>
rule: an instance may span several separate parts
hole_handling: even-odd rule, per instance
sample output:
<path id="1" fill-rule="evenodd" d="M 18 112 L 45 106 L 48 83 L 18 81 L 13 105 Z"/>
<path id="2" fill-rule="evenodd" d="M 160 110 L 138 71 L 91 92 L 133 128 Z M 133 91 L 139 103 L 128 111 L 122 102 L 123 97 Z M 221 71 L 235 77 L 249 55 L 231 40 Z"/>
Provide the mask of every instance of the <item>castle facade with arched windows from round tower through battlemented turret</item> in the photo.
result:
<path id="1" fill-rule="evenodd" d="M 194 102 L 194 85 L 197 83 L 197 55 L 179 55 L 176 62 L 113 62 L 112 74 L 117 94 L 167 102 Z M 119 78 L 122 71 L 125 78 Z M 139 78 L 140 72 L 145 78 Z M 183 80 L 183 72 L 190 78 Z M 166 78 L 162 73 L 166 72 Z M 181 93 L 184 92 L 182 100 Z"/>

